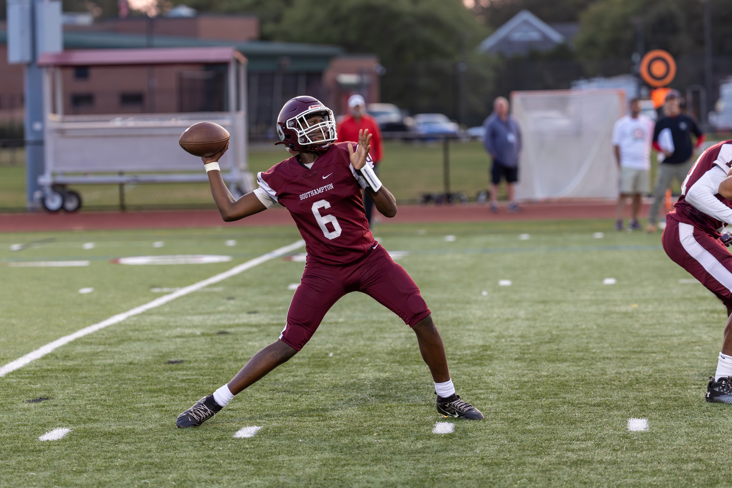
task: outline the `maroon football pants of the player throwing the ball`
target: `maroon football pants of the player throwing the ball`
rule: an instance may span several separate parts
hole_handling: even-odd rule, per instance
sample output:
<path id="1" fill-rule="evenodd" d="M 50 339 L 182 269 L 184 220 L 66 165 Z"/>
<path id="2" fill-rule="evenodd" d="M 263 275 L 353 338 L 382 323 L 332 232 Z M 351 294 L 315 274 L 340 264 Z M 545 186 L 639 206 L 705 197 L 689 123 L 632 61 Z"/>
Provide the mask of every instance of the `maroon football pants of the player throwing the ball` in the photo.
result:
<path id="1" fill-rule="evenodd" d="M 321 264 L 308 258 L 280 339 L 301 350 L 330 307 L 353 291 L 366 293 L 410 327 L 430 315 L 414 280 L 392 260 L 386 249 L 376 244 L 365 258 L 348 265 Z"/>

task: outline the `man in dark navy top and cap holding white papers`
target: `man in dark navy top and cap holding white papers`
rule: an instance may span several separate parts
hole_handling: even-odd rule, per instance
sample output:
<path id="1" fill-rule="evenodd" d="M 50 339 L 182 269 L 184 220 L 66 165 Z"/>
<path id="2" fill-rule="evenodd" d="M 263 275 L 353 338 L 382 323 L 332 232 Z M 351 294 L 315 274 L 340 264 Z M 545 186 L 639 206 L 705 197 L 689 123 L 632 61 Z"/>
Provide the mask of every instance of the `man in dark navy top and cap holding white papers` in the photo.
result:
<path id="1" fill-rule="evenodd" d="M 696 136 L 696 147 L 704 142 L 704 134 L 696 121 L 685 113 L 681 113 L 679 91 L 671 90 L 663 104 L 663 117 L 656 122 L 653 131 L 653 146 L 658 151 L 658 181 L 653 189 L 653 204 L 648 215 L 646 232 L 656 232 L 658 210 L 663 201 L 666 189 L 671 187 L 673 177 L 684 181 L 694 165 L 691 134 Z M 662 133 L 663 132 L 663 133 Z"/>

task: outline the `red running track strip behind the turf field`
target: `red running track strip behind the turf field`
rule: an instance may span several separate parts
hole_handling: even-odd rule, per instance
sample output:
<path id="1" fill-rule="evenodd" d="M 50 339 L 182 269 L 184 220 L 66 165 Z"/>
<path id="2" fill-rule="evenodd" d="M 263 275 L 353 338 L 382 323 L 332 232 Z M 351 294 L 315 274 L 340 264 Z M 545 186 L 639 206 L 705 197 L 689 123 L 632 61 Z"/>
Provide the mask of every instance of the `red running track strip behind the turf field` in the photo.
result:
<path id="1" fill-rule="evenodd" d="M 648 214 L 646 203 L 641 210 Z M 607 200 L 583 200 L 567 202 L 524 203 L 518 214 L 501 207 L 497 214 L 488 206 L 468 205 L 399 207 L 393 219 L 381 217 L 382 223 L 416 224 L 433 222 L 496 222 L 505 220 L 559 220 L 559 219 L 613 219 L 615 203 Z M 36 230 L 102 230 L 149 228 L 201 228 L 217 226 L 269 226 L 294 225 L 287 210 L 277 206 L 238 222 L 223 222 L 214 210 L 85 212 L 77 214 L 49 214 L 29 212 L 0 214 L 0 232 L 24 232 Z"/>

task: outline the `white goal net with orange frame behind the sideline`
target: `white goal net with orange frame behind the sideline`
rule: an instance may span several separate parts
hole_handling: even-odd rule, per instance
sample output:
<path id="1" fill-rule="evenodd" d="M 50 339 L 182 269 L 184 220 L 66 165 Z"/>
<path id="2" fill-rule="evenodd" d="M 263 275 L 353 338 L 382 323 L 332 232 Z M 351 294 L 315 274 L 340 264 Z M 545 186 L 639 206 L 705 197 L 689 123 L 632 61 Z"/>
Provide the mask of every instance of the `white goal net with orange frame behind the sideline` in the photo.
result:
<path id="1" fill-rule="evenodd" d="M 617 197 L 612 135 L 623 91 L 515 91 L 511 101 L 523 134 L 518 200 Z"/>

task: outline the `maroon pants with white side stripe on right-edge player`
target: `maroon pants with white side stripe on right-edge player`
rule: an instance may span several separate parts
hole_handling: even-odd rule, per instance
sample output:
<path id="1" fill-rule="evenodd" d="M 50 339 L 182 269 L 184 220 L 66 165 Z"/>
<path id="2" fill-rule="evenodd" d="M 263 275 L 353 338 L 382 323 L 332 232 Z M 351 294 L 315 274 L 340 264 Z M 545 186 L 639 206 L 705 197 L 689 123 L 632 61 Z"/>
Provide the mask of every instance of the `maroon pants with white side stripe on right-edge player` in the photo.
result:
<path id="1" fill-rule="evenodd" d="M 732 308 L 732 254 L 722 241 L 671 217 L 666 217 L 661 241 L 674 263 Z"/>

